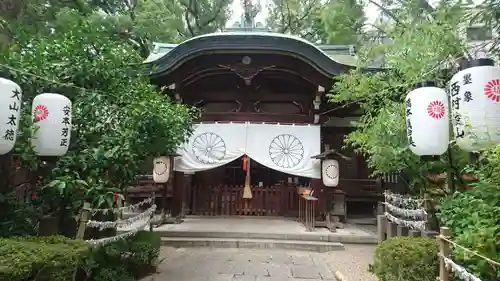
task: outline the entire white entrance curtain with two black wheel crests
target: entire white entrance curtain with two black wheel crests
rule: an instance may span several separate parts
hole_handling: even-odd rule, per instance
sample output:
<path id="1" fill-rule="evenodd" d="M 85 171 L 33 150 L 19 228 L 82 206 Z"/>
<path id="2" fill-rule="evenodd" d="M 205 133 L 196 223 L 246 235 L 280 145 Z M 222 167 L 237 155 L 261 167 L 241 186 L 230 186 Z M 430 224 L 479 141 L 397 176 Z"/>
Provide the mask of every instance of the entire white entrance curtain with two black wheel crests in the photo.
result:
<path id="1" fill-rule="evenodd" d="M 321 178 L 320 127 L 279 124 L 199 124 L 178 151 L 175 170 L 198 172 L 232 162 L 246 154 L 273 170 Z"/>

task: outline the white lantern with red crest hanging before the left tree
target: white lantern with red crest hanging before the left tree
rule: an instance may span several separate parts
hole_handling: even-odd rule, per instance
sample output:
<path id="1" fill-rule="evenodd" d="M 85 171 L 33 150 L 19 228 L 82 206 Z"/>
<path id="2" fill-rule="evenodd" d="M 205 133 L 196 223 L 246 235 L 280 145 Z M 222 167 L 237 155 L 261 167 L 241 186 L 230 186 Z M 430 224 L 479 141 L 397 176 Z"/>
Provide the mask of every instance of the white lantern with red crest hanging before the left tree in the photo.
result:
<path id="1" fill-rule="evenodd" d="M 44 93 L 33 99 L 31 109 L 38 126 L 32 141 L 36 154 L 63 156 L 71 137 L 71 101 L 63 95 Z"/>

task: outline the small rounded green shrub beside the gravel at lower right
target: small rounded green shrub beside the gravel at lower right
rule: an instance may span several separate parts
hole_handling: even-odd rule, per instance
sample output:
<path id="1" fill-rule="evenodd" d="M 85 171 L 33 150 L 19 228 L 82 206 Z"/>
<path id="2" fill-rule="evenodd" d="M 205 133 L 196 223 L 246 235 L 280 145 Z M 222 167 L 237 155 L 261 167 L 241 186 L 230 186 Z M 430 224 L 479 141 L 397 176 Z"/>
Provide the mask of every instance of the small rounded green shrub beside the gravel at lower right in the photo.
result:
<path id="1" fill-rule="evenodd" d="M 370 272 L 380 281 L 435 281 L 438 252 L 435 239 L 394 237 L 377 246 Z"/>

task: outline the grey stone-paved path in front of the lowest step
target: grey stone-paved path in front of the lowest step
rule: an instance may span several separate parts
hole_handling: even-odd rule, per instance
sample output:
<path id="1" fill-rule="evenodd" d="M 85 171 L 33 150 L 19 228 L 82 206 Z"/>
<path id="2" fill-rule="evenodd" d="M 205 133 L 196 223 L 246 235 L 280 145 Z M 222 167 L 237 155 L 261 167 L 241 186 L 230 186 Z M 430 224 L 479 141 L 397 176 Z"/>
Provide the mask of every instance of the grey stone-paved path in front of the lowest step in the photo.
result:
<path id="1" fill-rule="evenodd" d="M 160 260 L 158 272 L 143 281 L 335 280 L 322 255 L 311 252 L 163 247 Z"/>

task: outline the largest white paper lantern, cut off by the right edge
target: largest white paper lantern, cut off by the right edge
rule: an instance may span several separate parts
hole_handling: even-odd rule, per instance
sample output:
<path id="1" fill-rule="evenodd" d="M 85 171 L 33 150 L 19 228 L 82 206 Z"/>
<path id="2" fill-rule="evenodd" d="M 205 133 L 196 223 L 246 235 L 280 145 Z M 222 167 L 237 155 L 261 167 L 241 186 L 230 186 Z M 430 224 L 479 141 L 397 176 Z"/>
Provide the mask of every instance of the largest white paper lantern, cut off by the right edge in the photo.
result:
<path id="1" fill-rule="evenodd" d="M 490 59 L 469 61 L 450 80 L 457 145 L 478 151 L 500 143 L 500 67 Z"/>

